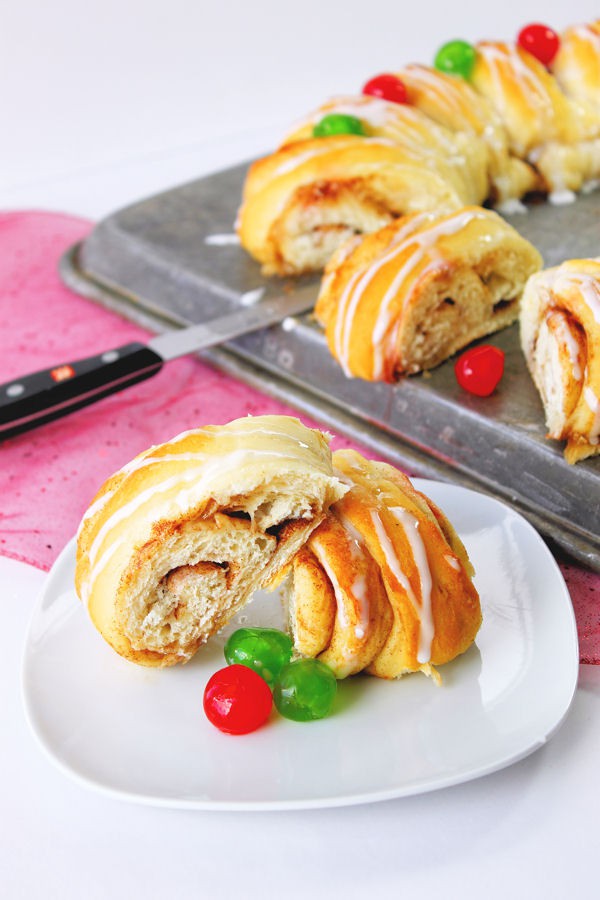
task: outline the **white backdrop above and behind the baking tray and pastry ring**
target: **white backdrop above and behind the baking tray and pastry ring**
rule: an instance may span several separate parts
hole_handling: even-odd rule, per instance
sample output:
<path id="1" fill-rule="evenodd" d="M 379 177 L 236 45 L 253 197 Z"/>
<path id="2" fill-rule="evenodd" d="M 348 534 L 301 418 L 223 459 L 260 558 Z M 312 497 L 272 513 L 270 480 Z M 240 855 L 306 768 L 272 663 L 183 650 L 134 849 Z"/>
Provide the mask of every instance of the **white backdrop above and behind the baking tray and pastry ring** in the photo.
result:
<path id="1" fill-rule="evenodd" d="M 0 205 L 103 215 L 267 150 L 328 96 L 597 0 L 0 0 Z M 113 188 L 94 177 L 112 167 Z M 48 182 L 52 182 L 52 187 Z"/>

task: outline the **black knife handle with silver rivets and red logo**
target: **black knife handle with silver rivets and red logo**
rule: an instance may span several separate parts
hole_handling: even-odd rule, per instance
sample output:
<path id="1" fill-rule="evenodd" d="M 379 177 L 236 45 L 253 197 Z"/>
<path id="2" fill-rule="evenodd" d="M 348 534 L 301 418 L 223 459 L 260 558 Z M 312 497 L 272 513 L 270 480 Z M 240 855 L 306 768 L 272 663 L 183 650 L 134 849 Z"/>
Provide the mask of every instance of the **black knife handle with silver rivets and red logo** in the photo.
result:
<path id="1" fill-rule="evenodd" d="M 0 385 L 0 440 L 50 422 L 160 371 L 144 344 L 125 344 Z"/>

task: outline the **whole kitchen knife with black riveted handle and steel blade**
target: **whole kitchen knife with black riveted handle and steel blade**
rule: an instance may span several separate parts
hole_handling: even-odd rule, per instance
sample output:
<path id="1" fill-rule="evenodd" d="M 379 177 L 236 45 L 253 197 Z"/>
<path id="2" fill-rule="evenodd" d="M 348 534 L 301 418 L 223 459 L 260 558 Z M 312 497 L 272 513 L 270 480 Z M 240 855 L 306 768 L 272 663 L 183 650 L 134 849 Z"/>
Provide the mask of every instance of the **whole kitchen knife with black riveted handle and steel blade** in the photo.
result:
<path id="1" fill-rule="evenodd" d="M 144 381 L 165 362 L 266 328 L 314 305 L 303 293 L 261 300 L 199 325 L 168 331 L 76 362 L 60 363 L 0 385 L 0 440 L 66 416 Z"/>

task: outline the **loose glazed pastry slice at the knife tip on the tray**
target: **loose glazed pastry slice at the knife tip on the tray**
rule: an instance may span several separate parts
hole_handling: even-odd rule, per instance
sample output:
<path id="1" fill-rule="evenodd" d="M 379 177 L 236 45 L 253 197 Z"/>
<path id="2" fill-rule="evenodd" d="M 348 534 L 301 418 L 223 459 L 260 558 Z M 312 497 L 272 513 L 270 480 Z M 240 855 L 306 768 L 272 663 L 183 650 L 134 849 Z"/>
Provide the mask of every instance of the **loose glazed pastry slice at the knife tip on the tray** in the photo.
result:
<path id="1" fill-rule="evenodd" d="M 340 248 L 315 315 L 347 375 L 391 382 L 515 321 L 541 263 L 491 210 L 406 216 Z"/>

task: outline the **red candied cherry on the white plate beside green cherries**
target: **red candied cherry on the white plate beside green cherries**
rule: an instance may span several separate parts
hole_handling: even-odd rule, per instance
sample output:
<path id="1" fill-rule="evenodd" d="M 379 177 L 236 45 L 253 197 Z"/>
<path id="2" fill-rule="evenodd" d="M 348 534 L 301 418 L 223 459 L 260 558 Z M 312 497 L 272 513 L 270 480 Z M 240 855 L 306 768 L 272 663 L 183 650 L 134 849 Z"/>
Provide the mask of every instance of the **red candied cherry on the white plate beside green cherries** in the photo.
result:
<path id="1" fill-rule="evenodd" d="M 248 666 L 225 666 L 204 689 L 204 712 L 226 734 L 248 734 L 269 718 L 273 697 L 266 681 Z"/>

